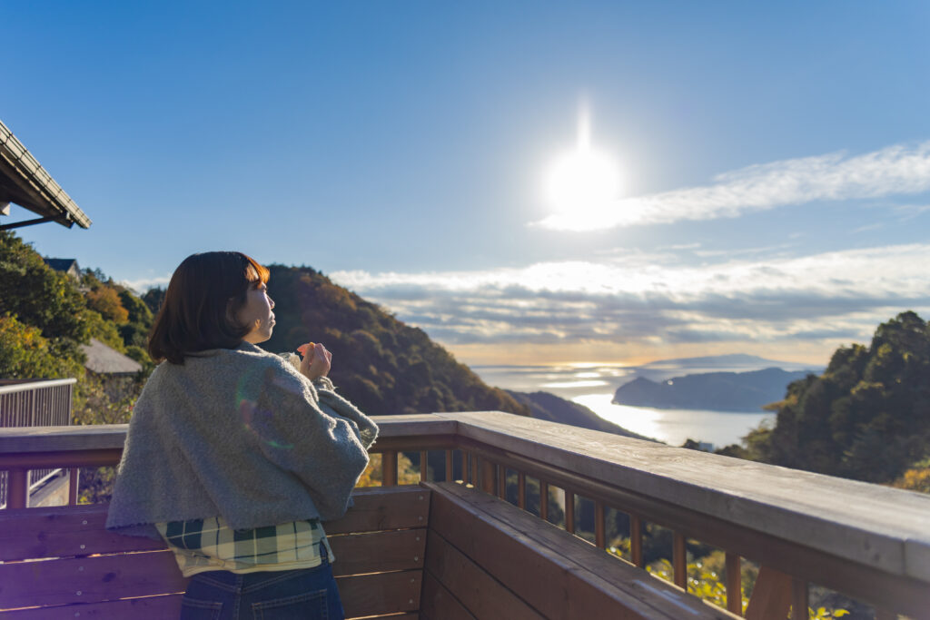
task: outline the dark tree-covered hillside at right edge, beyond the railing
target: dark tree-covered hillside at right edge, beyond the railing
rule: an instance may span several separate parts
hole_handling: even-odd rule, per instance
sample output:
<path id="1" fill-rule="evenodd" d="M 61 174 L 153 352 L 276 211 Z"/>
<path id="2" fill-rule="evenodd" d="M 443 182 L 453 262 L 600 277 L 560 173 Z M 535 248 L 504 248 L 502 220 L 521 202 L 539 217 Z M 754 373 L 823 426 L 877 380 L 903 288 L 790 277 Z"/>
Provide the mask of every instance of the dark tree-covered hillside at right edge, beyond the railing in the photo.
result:
<path id="1" fill-rule="evenodd" d="M 915 482 L 902 485 L 920 488 L 930 480 L 930 326 L 914 312 L 899 314 L 879 325 L 870 346 L 841 348 L 822 376 L 791 383 L 773 408 L 774 428 L 752 431 L 736 454 L 862 481 L 895 481 L 910 470 Z"/>

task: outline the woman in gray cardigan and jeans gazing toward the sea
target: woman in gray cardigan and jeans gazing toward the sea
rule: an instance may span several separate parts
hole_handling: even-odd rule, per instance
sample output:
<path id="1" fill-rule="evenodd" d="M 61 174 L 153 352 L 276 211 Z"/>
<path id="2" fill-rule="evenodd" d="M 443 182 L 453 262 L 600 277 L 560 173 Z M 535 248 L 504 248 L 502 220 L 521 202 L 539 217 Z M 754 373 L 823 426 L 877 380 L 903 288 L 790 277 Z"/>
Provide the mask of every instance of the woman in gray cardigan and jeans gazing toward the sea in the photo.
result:
<path id="1" fill-rule="evenodd" d="M 149 338 L 107 528 L 163 538 L 193 576 L 181 618 L 342 618 L 320 521 L 341 517 L 378 428 L 326 378 L 320 345 L 272 336 L 268 270 L 187 257 Z"/>

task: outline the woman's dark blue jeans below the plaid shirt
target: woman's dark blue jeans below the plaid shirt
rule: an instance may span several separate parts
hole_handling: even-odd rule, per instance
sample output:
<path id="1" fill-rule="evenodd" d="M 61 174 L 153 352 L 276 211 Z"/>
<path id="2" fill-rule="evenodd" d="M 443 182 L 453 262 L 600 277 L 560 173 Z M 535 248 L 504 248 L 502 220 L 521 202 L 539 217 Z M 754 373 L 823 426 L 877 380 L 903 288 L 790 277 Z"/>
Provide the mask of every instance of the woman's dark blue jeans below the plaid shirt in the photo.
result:
<path id="1" fill-rule="evenodd" d="M 323 563 L 299 571 L 193 575 L 181 600 L 181 620 L 343 620 L 333 569 Z"/>

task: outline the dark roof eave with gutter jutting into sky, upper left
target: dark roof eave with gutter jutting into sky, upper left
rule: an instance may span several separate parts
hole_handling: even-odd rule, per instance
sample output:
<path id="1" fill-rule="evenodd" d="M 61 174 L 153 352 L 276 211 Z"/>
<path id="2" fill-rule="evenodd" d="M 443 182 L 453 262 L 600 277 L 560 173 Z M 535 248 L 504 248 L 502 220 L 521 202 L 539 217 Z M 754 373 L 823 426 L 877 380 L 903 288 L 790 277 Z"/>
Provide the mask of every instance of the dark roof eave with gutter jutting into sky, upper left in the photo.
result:
<path id="1" fill-rule="evenodd" d="M 68 228 L 74 224 L 90 227 L 90 218 L 3 122 L 0 122 L 0 203 L 19 204 Z"/>

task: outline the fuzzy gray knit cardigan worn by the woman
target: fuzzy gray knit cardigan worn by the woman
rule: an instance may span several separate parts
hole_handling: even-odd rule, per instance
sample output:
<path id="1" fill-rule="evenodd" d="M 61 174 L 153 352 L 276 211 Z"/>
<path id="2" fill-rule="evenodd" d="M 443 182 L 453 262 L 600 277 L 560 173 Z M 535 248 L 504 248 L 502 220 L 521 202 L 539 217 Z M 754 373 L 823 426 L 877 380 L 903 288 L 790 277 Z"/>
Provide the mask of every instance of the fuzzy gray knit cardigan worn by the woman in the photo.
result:
<path id="1" fill-rule="evenodd" d="M 341 517 L 378 427 L 282 357 L 243 342 L 161 363 L 136 402 L 107 529 L 162 521 L 234 529 Z"/>

